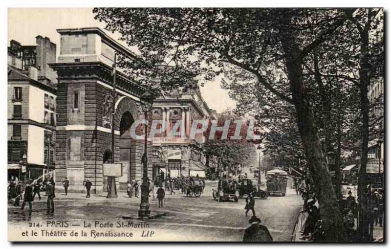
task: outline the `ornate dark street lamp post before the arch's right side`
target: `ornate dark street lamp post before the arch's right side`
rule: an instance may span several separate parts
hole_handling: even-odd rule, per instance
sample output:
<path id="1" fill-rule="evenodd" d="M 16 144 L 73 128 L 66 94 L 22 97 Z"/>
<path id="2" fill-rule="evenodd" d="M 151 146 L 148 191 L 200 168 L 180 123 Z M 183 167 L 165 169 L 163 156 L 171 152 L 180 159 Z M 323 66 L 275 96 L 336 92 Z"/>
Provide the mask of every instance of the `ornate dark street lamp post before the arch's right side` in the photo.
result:
<path id="1" fill-rule="evenodd" d="M 148 113 L 152 109 L 153 96 L 149 92 L 143 93 L 140 97 L 140 105 L 144 112 L 146 123 L 144 123 L 144 155 L 143 162 L 143 183 L 141 184 L 141 204 L 138 210 L 139 218 L 149 218 L 151 215 L 149 204 L 149 183 L 148 183 L 148 157 L 147 157 L 147 136 L 148 136 Z"/>

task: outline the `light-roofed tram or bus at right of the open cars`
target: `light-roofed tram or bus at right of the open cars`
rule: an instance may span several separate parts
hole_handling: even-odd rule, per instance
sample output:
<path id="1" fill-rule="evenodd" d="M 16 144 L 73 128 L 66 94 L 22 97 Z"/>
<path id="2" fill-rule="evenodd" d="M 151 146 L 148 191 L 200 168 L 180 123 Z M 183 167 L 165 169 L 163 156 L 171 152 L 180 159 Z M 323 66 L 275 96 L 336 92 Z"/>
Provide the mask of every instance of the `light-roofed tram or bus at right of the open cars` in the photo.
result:
<path id="1" fill-rule="evenodd" d="M 268 194 L 285 196 L 288 173 L 281 169 L 273 169 L 267 171 L 266 175 L 266 189 Z"/>

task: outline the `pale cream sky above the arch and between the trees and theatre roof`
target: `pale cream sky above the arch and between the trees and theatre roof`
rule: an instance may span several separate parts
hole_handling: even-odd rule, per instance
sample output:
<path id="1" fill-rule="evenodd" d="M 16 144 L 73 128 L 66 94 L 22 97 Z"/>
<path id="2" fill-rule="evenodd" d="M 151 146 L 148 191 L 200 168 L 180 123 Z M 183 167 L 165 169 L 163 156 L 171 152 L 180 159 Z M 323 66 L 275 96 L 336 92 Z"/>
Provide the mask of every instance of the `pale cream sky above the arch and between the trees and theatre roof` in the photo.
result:
<path id="1" fill-rule="evenodd" d="M 56 29 L 79 27 L 100 27 L 104 30 L 105 24 L 94 19 L 91 8 L 8 9 L 8 45 L 11 40 L 16 40 L 22 45 L 35 45 L 35 37 L 41 35 L 48 37 L 57 45 L 57 54 L 59 54 L 60 35 Z M 118 34 L 111 32 L 107 34 L 115 40 L 119 38 Z M 220 88 L 220 81 L 221 76 L 200 88 L 209 108 L 218 113 L 236 106 L 236 102 L 228 96 L 228 91 Z"/>

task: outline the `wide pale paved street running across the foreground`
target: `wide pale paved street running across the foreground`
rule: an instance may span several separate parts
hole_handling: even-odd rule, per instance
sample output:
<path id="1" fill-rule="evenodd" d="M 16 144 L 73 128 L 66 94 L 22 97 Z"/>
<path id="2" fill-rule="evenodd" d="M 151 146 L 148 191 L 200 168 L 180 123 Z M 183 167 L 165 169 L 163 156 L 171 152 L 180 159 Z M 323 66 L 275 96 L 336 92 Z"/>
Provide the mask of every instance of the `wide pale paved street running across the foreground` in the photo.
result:
<path id="1" fill-rule="evenodd" d="M 170 236 L 177 241 L 241 241 L 243 230 L 249 226 L 248 219 L 244 215 L 245 199 L 234 202 L 217 202 L 212 198 L 212 188 L 216 188 L 217 181 L 208 181 L 204 193 L 199 198 L 187 198 L 183 194 L 166 195 L 163 208 L 157 208 L 157 200 L 150 198 L 152 215 L 164 213 L 164 216 L 147 221 L 149 230 L 154 231 L 155 237 L 149 240 L 160 240 L 164 236 Z M 28 207 L 21 211 L 9 204 L 9 226 L 18 228 L 26 226 L 28 222 L 40 223 L 47 228 L 47 221 L 67 221 L 69 224 L 83 222 L 94 224 L 95 221 L 125 222 L 124 215 L 136 217 L 140 198 L 128 198 L 125 192 L 118 193 L 118 199 L 106 199 L 104 195 L 91 195 L 90 199 L 85 194 L 71 193 L 65 196 L 57 193 L 55 198 L 55 212 L 46 214 L 46 198 L 33 202 L 33 212 L 29 216 Z M 269 197 L 266 200 L 256 199 L 255 212 L 261 219 L 262 225 L 267 226 L 274 241 L 290 241 L 299 209 L 302 205 L 300 196 L 288 188 L 285 197 Z M 134 223 L 142 223 L 138 220 L 130 220 Z M 10 228 L 10 229 L 13 229 Z M 73 227 L 79 228 L 79 227 Z M 64 228 L 70 229 L 69 227 Z M 82 229 L 82 228 L 81 228 Z M 132 240 L 143 240 L 137 237 L 141 234 L 141 228 L 132 228 L 135 236 Z M 115 227 L 114 227 L 115 230 Z M 144 229 L 146 230 L 146 229 Z"/>

